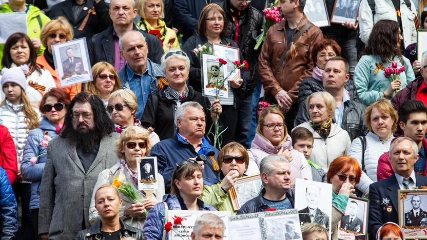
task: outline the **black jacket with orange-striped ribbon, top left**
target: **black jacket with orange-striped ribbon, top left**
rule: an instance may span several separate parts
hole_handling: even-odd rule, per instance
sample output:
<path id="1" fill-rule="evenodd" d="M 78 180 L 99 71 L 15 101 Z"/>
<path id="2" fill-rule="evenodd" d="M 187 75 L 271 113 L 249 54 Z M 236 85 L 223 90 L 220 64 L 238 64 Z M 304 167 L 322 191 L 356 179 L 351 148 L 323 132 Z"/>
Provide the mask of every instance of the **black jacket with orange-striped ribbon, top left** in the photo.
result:
<path id="1" fill-rule="evenodd" d="M 97 4 L 94 0 L 87 0 L 87 2 L 84 4 L 82 12 L 80 13 L 79 17 L 77 17 L 77 21 L 74 21 L 71 1 L 74 0 L 66 0 L 62 3 L 55 4 L 50 9 L 49 17 L 50 19 L 58 16 L 64 16 L 67 18 L 74 31 L 74 39 L 86 37 L 86 42 L 89 43 L 90 38 L 94 34 L 104 31 L 104 29 L 108 28 L 108 26 L 112 24 L 110 15 L 108 14 L 108 7 L 104 0 L 101 0 Z M 92 7 L 95 7 L 96 14 L 91 13 L 89 15 L 89 19 L 85 28 L 80 31 L 79 28 L 82 25 L 88 11 L 92 9 Z"/>

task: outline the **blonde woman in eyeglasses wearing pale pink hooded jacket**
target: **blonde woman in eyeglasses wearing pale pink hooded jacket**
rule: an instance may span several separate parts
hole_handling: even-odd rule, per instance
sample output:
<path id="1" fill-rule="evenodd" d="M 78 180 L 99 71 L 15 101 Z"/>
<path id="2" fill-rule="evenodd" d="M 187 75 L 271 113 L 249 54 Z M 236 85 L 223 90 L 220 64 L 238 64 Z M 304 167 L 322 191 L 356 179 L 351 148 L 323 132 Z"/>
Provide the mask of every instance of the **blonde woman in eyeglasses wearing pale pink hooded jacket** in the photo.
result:
<path id="1" fill-rule="evenodd" d="M 259 174 L 262 158 L 277 154 L 286 157 L 295 186 L 296 178 L 313 179 L 312 170 L 304 154 L 292 147 L 292 139 L 287 133 L 285 117 L 278 108 L 266 108 L 258 116 L 257 133 L 248 149 L 249 166 L 247 175 Z"/>

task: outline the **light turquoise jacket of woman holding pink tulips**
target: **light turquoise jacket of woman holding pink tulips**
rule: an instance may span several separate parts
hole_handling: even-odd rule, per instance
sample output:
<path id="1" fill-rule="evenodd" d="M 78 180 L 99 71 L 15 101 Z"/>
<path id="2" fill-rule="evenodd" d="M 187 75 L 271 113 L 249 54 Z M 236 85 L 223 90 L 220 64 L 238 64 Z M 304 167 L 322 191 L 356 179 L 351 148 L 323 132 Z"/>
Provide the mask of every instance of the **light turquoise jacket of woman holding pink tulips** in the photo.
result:
<path id="1" fill-rule="evenodd" d="M 414 70 L 412 70 L 409 59 L 404 56 L 402 56 L 402 58 L 405 66 L 405 72 L 400 73 L 400 89 L 404 89 L 407 83 L 414 81 L 415 79 Z M 397 62 L 398 68 L 402 66 L 397 56 L 393 58 L 393 61 Z M 354 82 L 357 93 L 359 94 L 361 102 L 366 106 L 370 106 L 372 103 L 377 101 L 377 99 L 381 97 L 380 92 L 386 91 L 390 87 L 391 81 L 389 78 L 384 76 L 383 70 L 380 69 L 376 74 L 374 74 L 374 71 L 377 68 L 376 64 L 380 63 L 382 62 L 381 57 L 379 56 L 363 55 L 354 71 Z M 382 67 L 387 68 L 391 65 L 391 62 L 382 64 Z"/>

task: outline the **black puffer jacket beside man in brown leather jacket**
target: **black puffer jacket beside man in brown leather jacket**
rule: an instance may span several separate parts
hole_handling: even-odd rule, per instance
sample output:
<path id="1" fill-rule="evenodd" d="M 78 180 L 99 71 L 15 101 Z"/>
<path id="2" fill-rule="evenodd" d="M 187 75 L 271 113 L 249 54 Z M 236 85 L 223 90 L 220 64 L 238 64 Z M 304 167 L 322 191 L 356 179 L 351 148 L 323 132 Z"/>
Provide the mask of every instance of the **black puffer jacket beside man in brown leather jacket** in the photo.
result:
<path id="1" fill-rule="evenodd" d="M 261 34 L 263 14 L 248 5 L 247 8 L 241 12 L 234 8 L 229 0 L 219 3 L 225 11 L 228 20 L 228 34 L 227 37 L 234 40 L 236 35 L 236 22 L 233 21 L 234 16 L 238 19 L 239 34 L 237 45 L 239 45 L 240 52 L 243 58 L 249 63 L 250 79 L 248 80 L 246 91 L 252 92 L 258 78 L 258 56 L 261 51 L 261 46 L 257 51 L 254 50 L 257 44 L 257 36 Z M 233 14 L 234 12 L 234 14 Z"/>

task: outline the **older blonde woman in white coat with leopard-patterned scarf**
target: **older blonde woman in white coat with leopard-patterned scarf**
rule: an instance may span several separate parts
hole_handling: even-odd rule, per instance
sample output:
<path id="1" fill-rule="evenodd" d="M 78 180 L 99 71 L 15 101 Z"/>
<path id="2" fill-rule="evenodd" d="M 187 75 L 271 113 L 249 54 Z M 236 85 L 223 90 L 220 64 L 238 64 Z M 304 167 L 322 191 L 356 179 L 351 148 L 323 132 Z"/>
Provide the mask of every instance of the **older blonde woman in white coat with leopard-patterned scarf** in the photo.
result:
<path id="1" fill-rule="evenodd" d="M 335 99 L 328 92 L 314 92 L 308 96 L 306 108 L 310 120 L 297 127 L 304 127 L 314 135 L 310 161 L 327 172 L 335 158 L 347 154 L 352 141 L 348 133 L 334 123 Z"/>

